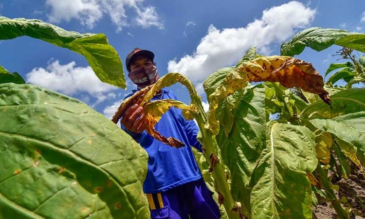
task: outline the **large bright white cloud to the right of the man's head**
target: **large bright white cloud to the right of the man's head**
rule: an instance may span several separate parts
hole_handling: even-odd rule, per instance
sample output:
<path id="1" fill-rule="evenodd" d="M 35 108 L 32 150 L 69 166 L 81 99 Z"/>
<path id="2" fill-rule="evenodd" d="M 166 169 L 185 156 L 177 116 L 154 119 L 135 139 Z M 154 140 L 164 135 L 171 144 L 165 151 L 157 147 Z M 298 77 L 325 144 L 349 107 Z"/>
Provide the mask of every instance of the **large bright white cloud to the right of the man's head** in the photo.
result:
<path id="1" fill-rule="evenodd" d="M 314 9 L 291 1 L 264 10 L 262 18 L 246 27 L 218 30 L 210 25 L 196 51 L 180 60 L 170 60 L 168 72 L 180 72 L 199 82 L 216 70 L 235 64 L 253 46 L 259 52 L 268 52 L 270 44 L 292 37 L 295 28 L 309 26 L 314 15 Z"/>

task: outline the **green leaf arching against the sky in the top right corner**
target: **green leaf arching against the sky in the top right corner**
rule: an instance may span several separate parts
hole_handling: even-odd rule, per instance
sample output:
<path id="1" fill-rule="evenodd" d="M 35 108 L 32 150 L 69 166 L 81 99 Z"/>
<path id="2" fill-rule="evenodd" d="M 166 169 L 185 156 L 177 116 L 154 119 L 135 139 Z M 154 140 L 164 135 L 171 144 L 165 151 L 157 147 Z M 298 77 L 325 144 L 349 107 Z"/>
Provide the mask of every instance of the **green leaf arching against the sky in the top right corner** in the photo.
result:
<path id="1" fill-rule="evenodd" d="M 322 51 L 333 44 L 365 52 L 364 38 L 364 34 L 349 33 L 341 29 L 311 27 L 300 31 L 290 41 L 284 42 L 281 45 L 280 54 L 299 55 L 306 46 L 316 51 Z"/>

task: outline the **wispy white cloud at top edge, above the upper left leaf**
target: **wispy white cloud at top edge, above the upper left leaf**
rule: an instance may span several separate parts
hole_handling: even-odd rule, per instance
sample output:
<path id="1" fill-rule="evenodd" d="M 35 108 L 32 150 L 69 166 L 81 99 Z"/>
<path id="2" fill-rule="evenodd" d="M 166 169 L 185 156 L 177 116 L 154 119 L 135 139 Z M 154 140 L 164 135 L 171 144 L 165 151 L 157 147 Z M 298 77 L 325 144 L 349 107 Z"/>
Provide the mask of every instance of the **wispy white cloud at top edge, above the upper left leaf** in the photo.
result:
<path id="1" fill-rule="evenodd" d="M 109 15 L 117 32 L 131 23 L 143 28 L 164 28 L 155 7 L 144 6 L 143 2 L 144 0 L 47 0 L 46 4 L 51 7 L 48 18 L 53 23 L 77 19 L 82 25 L 92 28 L 104 15 Z M 135 12 L 134 18 L 128 19 L 126 9 L 129 8 Z"/>

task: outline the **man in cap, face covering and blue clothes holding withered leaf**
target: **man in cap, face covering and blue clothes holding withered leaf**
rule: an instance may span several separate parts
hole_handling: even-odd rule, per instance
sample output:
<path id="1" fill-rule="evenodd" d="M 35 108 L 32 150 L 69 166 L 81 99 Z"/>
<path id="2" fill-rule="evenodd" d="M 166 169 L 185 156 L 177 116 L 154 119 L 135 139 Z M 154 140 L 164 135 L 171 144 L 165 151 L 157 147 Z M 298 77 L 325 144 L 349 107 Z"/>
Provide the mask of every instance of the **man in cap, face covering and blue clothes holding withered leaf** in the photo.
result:
<path id="1" fill-rule="evenodd" d="M 128 77 L 142 89 L 159 79 L 154 54 L 148 50 L 133 49 L 126 58 Z M 133 90 L 133 93 L 137 90 Z M 133 93 L 129 94 L 131 96 Z M 127 97 L 128 97 L 127 96 Z M 165 88 L 152 100 L 176 99 Z M 184 119 L 182 111 L 168 110 L 155 128 L 162 135 L 174 137 L 185 146 L 175 148 L 152 138 L 144 129 L 145 114 L 137 104 L 129 107 L 121 119 L 121 127 L 148 153 L 148 170 L 145 183 L 151 218 L 155 219 L 219 219 L 217 203 L 207 188 L 190 146 L 201 151 L 197 141 L 198 127 Z"/>

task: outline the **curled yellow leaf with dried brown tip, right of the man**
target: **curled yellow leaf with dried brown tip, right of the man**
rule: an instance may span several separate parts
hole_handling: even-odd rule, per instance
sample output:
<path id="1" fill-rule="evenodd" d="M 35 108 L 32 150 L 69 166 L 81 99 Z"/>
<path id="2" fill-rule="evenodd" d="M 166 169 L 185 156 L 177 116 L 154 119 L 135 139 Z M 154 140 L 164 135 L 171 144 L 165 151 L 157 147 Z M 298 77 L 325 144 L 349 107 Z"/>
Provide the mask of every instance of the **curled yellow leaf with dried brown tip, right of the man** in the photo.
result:
<path id="1" fill-rule="evenodd" d="M 246 87 L 246 82 L 260 81 L 279 82 L 286 88 L 297 87 L 319 94 L 323 101 L 331 105 L 329 93 L 323 88 L 323 77 L 310 63 L 290 56 L 259 57 L 242 62 L 233 68 L 222 80 L 220 86 L 209 95 L 209 124 L 214 133 L 217 134 L 219 130 L 219 123 L 215 117 L 219 100 Z"/>

